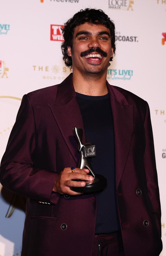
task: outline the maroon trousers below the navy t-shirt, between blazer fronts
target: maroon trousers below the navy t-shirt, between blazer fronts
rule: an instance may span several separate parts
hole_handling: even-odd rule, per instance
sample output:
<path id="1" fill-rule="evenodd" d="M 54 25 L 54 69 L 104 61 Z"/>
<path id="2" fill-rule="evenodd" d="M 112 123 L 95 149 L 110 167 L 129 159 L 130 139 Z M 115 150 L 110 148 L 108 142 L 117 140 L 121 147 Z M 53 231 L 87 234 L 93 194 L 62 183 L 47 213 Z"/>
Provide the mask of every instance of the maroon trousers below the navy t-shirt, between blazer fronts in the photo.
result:
<path id="1" fill-rule="evenodd" d="M 92 256 L 124 256 L 121 231 L 95 235 Z"/>

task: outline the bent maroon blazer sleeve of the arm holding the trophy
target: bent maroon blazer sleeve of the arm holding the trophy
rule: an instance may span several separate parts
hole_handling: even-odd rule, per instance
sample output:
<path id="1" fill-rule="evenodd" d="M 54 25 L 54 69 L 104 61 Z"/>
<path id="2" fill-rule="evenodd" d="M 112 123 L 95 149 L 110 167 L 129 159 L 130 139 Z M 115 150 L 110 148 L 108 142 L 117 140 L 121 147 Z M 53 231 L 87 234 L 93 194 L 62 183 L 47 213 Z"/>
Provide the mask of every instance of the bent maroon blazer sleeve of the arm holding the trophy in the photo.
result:
<path id="1" fill-rule="evenodd" d="M 52 189 L 58 174 L 34 168 L 34 152 L 35 120 L 29 97 L 24 95 L 1 161 L 0 182 L 14 193 L 56 204 L 60 195 Z"/>

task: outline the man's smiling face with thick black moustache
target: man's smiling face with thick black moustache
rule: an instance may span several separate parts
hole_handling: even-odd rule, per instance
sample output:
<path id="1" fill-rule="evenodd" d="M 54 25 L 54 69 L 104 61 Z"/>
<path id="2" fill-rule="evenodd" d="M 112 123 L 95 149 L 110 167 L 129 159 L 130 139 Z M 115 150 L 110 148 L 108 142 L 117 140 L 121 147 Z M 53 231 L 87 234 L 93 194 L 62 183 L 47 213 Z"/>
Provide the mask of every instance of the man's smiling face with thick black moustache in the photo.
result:
<path id="1" fill-rule="evenodd" d="M 75 27 L 73 45 L 68 47 L 73 72 L 106 73 L 113 55 L 110 30 L 103 25 L 84 23 Z"/>

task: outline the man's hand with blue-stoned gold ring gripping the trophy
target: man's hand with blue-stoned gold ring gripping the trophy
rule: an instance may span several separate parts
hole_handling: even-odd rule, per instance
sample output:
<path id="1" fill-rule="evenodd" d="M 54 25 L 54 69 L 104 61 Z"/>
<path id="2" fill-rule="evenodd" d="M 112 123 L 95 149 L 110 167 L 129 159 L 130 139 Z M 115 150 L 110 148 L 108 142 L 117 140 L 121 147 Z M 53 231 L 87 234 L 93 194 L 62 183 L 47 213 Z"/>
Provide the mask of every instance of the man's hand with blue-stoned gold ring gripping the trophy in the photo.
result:
<path id="1" fill-rule="evenodd" d="M 75 168 L 74 172 L 72 172 L 70 167 L 64 168 L 55 180 L 53 191 L 62 195 L 82 194 L 71 190 L 70 187 L 84 187 L 86 183 L 84 181 L 74 181 L 72 179 L 92 180 L 93 177 L 88 175 L 88 173 L 89 170 L 85 168 L 83 170 Z"/>

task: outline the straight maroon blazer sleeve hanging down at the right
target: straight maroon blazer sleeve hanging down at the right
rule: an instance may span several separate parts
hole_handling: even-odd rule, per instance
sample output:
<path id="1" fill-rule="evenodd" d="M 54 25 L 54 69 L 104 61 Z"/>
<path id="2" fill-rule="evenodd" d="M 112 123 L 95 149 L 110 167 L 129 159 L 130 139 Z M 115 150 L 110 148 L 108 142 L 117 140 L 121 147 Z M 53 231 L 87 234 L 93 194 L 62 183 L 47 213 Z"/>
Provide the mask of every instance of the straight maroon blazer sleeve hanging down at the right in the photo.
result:
<path id="1" fill-rule="evenodd" d="M 157 170 L 156 170 L 155 149 L 154 149 L 153 133 L 152 133 L 151 120 L 150 120 L 150 110 L 147 102 L 146 104 L 147 104 L 147 111 L 146 111 L 145 122 L 144 122 L 145 139 L 146 139 L 144 166 L 146 171 L 148 196 L 151 200 L 154 213 L 157 216 L 157 225 L 158 225 L 158 229 L 161 236 L 161 206 L 160 206 L 160 196 L 159 196 L 158 178 L 157 178 Z"/>

